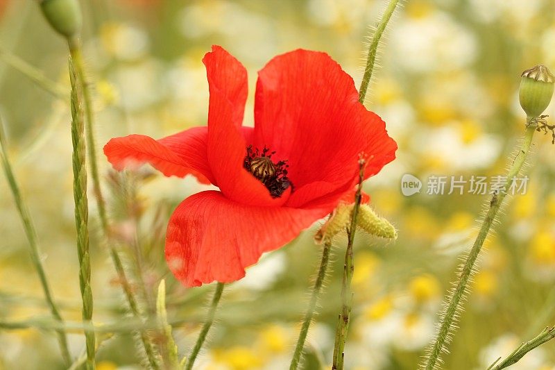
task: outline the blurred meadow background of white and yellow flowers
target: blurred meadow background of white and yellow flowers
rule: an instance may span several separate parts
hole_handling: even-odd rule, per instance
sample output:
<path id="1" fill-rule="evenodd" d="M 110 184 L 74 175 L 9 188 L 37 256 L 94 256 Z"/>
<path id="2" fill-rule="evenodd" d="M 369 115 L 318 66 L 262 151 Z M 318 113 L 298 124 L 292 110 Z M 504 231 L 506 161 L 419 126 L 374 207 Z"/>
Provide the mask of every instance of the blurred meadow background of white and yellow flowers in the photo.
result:
<path id="1" fill-rule="evenodd" d="M 248 125 L 256 72 L 277 54 L 325 51 L 358 85 L 363 42 L 386 6 L 382 0 L 81 4 L 99 146 L 114 136 L 163 137 L 205 124 L 208 86 L 201 59 L 212 44 L 248 69 Z M 17 72 L 10 66 L 13 56 L 42 70 L 61 95 Z M 555 0 L 409 0 L 393 16 L 366 106 L 386 121 L 399 144 L 398 159 L 365 190 L 375 210 L 398 228 L 399 238 L 382 242 L 357 235 L 347 369 L 416 368 L 486 196 L 429 195 L 425 185 L 419 194 L 403 196 L 401 177 L 409 173 L 425 182 L 430 175 L 502 174 L 523 132 L 520 73 L 539 63 L 555 68 Z M 0 0 L 0 115 L 8 149 L 37 226 L 53 295 L 67 321 L 80 321 L 68 96 L 63 39 L 46 24 L 36 1 Z M 555 115 L 553 103 L 546 113 Z M 445 369 L 485 369 L 555 323 L 555 146 L 549 135 L 538 135 L 535 142 L 527 193 L 511 197 L 488 239 Z M 164 178 L 148 167 L 115 174 L 99 155 L 130 278 L 147 312 L 160 280 L 167 280 L 169 321 L 185 355 L 214 285 L 185 289 L 173 278 L 164 262 L 164 233 L 173 208 L 205 187 L 193 178 Z M 126 315 L 125 302 L 90 204 L 94 322 L 114 325 Z M 315 230 L 265 255 L 246 278 L 225 288 L 219 319 L 196 368 L 288 368 L 320 256 Z M 0 235 L 0 321 L 49 320 L 4 176 Z M 334 243 L 333 273 L 311 327 L 305 369 L 330 362 L 345 244 L 345 237 Z M 64 368 L 56 336 L 35 326 L 0 328 L 0 369 Z M 69 335 L 69 345 L 74 356 L 82 351 L 78 330 Z M 130 333 L 105 338 L 97 358 L 99 370 L 140 368 Z M 513 368 L 555 369 L 555 344 L 537 348 Z"/>

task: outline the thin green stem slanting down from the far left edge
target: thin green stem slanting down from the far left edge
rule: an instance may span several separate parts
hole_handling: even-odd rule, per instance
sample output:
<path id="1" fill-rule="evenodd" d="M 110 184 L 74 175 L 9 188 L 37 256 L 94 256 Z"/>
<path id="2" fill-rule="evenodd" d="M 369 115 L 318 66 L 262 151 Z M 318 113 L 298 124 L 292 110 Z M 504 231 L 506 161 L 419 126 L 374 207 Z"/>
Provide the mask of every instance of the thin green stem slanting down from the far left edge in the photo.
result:
<path id="1" fill-rule="evenodd" d="M 37 233 L 35 231 L 35 226 L 33 224 L 33 220 L 31 219 L 31 215 L 29 214 L 27 206 L 22 198 L 21 191 L 19 190 L 19 185 L 17 184 L 17 180 L 15 179 L 15 175 L 12 170 L 10 159 L 8 158 L 8 151 L 6 149 L 6 138 L 1 121 L 0 158 L 2 160 L 4 173 L 6 174 L 6 178 L 8 179 L 8 184 L 10 185 L 12 196 L 15 200 L 17 211 L 19 212 L 19 218 L 22 219 L 25 235 L 29 242 L 29 246 L 31 247 L 31 261 L 33 262 L 33 265 L 37 270 L 37 274 L 39 275 L 40 285 L 42 286 L 42 290 L 44 292 L 44 298 L 46 298 L 46 303 L 48 304 L 50 312 L 54 319 L 56 319 L 60 323 L 63 323 L 60 311 L 58 310 L 56 303 L 54 303 L 54 299 L 50 290 L 50 285 L 48 283 L 48 280 L 46 279 L 46 273 L 44 272 L 44 266 L 42 265 L 42 260 L 40 259 L 40 250 L 37 244 Z M 64 359 L 64 362 L 69 365 L 71 363 L 71 356 L 69 355 L 69 350 L 67 348 L 67 337 L 65 335 L 65 332 L 64 330 L 56 330 L 56 333 L 58 333 L 58 342 L 60 344 L 62 358 Z"/>

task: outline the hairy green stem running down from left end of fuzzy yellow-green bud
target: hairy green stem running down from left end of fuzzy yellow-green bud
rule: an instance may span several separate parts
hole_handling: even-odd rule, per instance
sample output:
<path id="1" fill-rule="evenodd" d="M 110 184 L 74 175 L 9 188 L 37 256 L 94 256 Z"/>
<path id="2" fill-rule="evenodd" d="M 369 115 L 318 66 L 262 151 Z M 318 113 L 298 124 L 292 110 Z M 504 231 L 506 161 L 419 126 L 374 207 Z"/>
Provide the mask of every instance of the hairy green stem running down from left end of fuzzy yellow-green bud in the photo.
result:
<path id="1" fill-rule="evenodd" d="M 320 297 L 320 292 L 322 290 L 322 285 L 325 280 L 327 264 L 330 262 L 330 250 L 332 249 L 332 241 L 330 239 L 325 239 L 324 248 L 322 251 L 322 259 L 320 262 L 320 268 L 318 269 L 318 277 L 316 277 L 316 282 L 312 288 L 312 294 L 310 297 L 310 302 L 308 305 L 307 312 L 305 312 L 305 318 L 302 320 L 302 326 L 300 327 L 299 338 L 297 340 L 297 345 L 295 346 L 295 352 L 293 353 L 293 358 L 291 359 L 291 365 L 289 370 L 296 370 L 298 368 L 300 359 L 302 358 L 302 349 L 305 347 L 305 341 L 307 339 L 308 329 L 310 323 L 312 322 L 312 317 L 314 317 L 314 312 L 316 310 L 316 304 L 318 303 L 318 298 Z"/>

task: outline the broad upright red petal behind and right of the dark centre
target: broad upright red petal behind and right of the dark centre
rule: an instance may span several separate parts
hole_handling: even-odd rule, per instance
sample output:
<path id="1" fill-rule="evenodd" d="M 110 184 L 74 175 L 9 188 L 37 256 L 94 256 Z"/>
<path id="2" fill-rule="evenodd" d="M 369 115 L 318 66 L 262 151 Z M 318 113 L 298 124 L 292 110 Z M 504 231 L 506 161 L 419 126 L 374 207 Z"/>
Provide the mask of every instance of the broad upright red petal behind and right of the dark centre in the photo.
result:
<path id="1" fill-rule="evenodd" d="M 395 158 L 397 144 L 385 124 L 358 101 L 352 78 L 325 53 L 297 50 L 268 62 L 259 72 L 255 144 L 289 160 L 296 192 L 291 203 L 317 199 L 352 184 L 359 153 L 366 178 Z M 296 197 L 298 199 L 293 199 Z"/>

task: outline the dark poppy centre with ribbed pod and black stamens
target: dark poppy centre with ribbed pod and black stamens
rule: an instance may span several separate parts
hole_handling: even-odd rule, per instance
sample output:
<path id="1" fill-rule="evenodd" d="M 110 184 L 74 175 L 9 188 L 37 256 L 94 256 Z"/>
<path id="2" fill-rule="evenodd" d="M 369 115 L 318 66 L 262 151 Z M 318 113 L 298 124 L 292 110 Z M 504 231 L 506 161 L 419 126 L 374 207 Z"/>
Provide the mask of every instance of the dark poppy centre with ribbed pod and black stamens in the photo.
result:
<path id="1" fill-rule="evenodd" d="M 243 166 L 268 188 L 272 198 L 279 198 L 293 184 L 287 178 L 287 160 L 274 163 L 271 158 L 273 154 L 275 151 L 271 152 L 266 147 L 261 152 L 249 145 Z"/>

